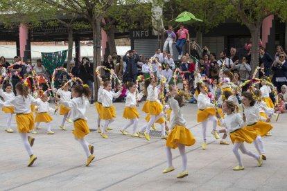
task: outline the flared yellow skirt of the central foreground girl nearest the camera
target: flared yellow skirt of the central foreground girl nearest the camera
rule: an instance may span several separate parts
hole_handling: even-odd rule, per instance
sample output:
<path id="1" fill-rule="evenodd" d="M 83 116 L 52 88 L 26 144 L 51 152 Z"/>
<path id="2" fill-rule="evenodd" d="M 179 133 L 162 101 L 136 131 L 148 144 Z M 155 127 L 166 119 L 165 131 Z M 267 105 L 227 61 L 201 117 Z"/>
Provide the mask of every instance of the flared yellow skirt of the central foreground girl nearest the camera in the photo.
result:
<path id="1" fill-rule="evenodd" d="M 175 128 L 171 130 L 171 134 L 168 135 L 166 146 L 175 149 L 179 143 L 185 146 L 191 146 L 194 145 L 195 138 L 189 129 L 176 125 Z"/>

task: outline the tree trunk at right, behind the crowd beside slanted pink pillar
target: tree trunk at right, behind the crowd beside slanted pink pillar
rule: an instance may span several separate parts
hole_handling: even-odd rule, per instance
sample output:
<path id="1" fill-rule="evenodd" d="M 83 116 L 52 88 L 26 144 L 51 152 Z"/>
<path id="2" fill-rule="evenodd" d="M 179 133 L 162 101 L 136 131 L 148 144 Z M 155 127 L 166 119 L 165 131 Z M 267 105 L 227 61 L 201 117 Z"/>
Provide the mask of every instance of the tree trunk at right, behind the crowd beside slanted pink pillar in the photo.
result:
<path id="1" fill-rule="evenodd" d="M 250 29 L 251 42 L 252 42 L 250 65 L 251 65 L 252 73 L 254 73 L 256 67 L 259 66 L 260 30 L 261 30 L 261 26 Z M 256 75 L 258 75 L 258 73 Z"/>

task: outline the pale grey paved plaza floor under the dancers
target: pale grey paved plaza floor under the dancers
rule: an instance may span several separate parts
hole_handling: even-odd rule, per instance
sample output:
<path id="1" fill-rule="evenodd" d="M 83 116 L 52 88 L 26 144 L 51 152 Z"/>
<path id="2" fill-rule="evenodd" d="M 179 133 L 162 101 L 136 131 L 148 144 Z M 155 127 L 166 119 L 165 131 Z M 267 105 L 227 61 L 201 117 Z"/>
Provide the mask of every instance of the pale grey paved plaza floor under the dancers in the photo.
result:
<path id="1" fill-rule="evenodd" d="M 141 103 L 141 108 L 143 103 Z M 272 136 L 263 138 L 267 161 L 262 167 L 250 156 L 242 156 L 245 170 L 235 172 L 237 165 L 232 145 L 219 145 L 208 126 L 207 150 L 201 149 L 202 128 L 196 122 L 196 104 L 184 107 L 187 128 L 191 129 L 196 143 L 186 147 L 189 176 L 177 179 L 181 171 L 178 149 L 173 152 L 175 171 L 162 174 L 166 167 L 165 140 L 123 136 L 119 131 L 127 120 L 122 118 L 124 103 L 116 103 L 116 121 L 109 138 L 92 131 L 87 140 L 94 145 L 96 156 L 85 167 L 86 156 L 81 145 L 73 139 L 73 125 L 66 123 L 67 131 L 59 128 L 62 116 L 52 115 L 54 135 L 46 134 L 46 125 L 35 135 L 33 152 L 37 161 L 26 167 L 28 154 L 19 134 L 8 134 L 4 129 L 6 115 L 0 114 L 0 190 L 286 190 L 287 187 L 287 114 L 272 122 Z M 139 109 L 140 111 L 141 109 Z M 146 124 L 140 111 L 139 127 Z M 96 128 L 94 104 L 87 112 L 90 128 Z M 159 126 L 157 125 L 159 129 Z M 15 116 L 12 129 L 16 129 Z M 132 127 L 130 127 L 131 131 Z M 253 145 L 247 149 L 255 152 Z"/>

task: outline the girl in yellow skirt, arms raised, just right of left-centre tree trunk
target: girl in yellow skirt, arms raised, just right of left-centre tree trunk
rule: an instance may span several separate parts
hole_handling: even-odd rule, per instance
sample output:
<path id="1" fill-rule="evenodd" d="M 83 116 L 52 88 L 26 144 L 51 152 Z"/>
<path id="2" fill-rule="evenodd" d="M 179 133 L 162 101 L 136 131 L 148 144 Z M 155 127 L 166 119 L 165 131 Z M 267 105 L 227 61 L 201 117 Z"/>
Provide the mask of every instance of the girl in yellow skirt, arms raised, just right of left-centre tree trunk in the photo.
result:
<path id="1" fill-rule="evenodd" d="M 107 129 L 107 125 L 112 123 L 114 121 L 114 118 L 116 117 L 116 108 L 112 105 L 112 98 L 119 98 L 121 96 L 121 91 L 123 91 L 123 88 L 117 92 L 112 92 L 112 83 L 110 81 L 101 82 L 101 86 L 103 86 L 103 93 L 102 93 L 102 104 L 103 108 L 101 109 L 101 120 L 104 121 L 104 125 L 102 127 L 101 136 L 103 138 L 109 138 L 105 134 L 105 130 Z"/>

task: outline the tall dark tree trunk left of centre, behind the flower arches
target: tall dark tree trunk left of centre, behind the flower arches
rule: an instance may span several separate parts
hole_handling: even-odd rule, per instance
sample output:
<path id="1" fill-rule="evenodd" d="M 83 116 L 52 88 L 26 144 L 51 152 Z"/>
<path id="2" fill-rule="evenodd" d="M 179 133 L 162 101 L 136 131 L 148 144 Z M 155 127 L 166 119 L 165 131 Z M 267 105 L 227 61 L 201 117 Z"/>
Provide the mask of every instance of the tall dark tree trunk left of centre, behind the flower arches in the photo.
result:
<path id="1" fill-rule="evenodd" d="M 101 66 L 101 19 L 95 19 L 92 21 L 93 30 L 93 45 L 94 45 L 94 100 L 98 100 L 98 87 L 99 80 L 95 74 L 96 67 Z"/>

